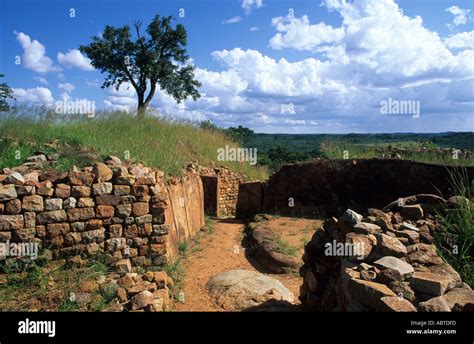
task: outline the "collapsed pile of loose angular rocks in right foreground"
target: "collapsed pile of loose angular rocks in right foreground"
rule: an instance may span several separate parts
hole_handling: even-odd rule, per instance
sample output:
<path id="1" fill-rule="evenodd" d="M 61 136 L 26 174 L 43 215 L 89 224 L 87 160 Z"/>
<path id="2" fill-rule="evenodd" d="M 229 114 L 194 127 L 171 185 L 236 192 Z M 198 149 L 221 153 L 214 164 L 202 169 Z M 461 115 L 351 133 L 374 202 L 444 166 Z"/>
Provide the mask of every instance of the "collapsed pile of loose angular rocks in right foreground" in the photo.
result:
<path id="1" fill-rule="evenodd" d="M 437 253 L 434 195 L 327 220 L 305 247 L 300 299 L 316 311 L 474 311 L 474 292 Z"/>

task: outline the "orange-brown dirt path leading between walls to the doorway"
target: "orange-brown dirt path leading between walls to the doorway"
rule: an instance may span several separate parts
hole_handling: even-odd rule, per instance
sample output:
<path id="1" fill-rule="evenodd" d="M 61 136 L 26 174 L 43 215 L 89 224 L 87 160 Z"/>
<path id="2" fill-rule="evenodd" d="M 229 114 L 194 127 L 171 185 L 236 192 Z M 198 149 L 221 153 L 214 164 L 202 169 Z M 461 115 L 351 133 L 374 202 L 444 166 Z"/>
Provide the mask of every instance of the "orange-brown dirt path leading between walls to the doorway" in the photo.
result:
<path id="1" fill-rule="evenodd" d="M 185 276 L 183 281 L 184 303 L 176 302 L 175 311 L 224 311 L 216 306 L 208 296 L 207 281 L 218 273 L 245 269 L 257 271 L 245 257 L 241 245 L 244 224 L 235 220 L 212 221 L 212 231 L 202 233 L 187 248 L 183 261 Z M 296 274 L 269 276 L 278 279 L 294 294 L 294 303 L 299 303 L 299 287 L 302 280 Z"/>

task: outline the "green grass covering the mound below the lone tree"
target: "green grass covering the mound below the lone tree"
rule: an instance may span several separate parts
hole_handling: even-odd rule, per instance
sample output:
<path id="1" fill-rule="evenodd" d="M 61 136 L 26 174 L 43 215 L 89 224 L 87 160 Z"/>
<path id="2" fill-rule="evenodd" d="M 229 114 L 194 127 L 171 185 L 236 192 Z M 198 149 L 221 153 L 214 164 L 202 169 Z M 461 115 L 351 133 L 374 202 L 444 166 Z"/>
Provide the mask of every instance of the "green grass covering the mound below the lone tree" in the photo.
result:
<path id="1" fill-rule="evenodd" d="M 180 175 L 187 163 L 198 161 L 225 165 L 249 179 L 267 178 L 266 168 L 217 161 L 219 148 L 237 144 L 218 131 L 199 129 L 192 123 L 137 119 L 120 112 L 101 113 L 93 119 L 58 119 L 50 114 L 32 119 L 24 115 L 27 111 L 36 110 L 23 109 L 23 113 L 6 114 L 0 120 L 0 138 L 6 139 L 0 144 L 0 167 L 16 166 L 54 142 L 62 155 L 57 166 L 61 170 L 90 164 L 94 156 L 116 155 L 172 175 Z"/>

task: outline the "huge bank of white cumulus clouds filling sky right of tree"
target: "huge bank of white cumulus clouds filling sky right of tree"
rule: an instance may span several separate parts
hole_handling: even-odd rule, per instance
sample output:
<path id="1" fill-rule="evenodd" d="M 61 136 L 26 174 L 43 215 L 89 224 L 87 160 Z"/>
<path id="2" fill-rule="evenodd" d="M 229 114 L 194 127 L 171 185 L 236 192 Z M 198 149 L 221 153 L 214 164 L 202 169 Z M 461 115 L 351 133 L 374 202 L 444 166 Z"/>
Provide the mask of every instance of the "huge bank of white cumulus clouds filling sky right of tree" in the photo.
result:
<path id="1" fill-rule="evenodd" d="M 311 23 L 307 16 L 272 21 L 277 31 L 272 48 L 305 50 L 314 57 L 288 61 L 252 49 L 214 51 L 222 71 L 196 71 L 202 98 L 185 102 L 184 113 L 269 132 L 473 128 L 466 118 L 474 95 L 455 96 L 456 90 L 469 90 L 474 79 L 470 34 L 442 39 L 392 0 L 324 4 L 341 16 L 339 27 Z M 380 102 L 389 97 L 420 100 L 420 119 L 382 117 Z M 173 109 L 172 101 L 160 102 Z M 446 125 L 432 123 L 442 116 Z"/>

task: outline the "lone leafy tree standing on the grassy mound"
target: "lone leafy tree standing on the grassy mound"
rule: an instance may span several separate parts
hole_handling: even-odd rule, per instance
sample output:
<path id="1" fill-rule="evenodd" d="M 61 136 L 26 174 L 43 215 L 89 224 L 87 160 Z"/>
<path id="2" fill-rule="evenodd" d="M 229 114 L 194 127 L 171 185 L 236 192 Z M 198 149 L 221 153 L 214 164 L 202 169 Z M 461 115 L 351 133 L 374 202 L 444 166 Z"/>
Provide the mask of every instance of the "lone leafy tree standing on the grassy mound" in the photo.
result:
<path id="1" fill-rule="evenodd" d="M 173 17 L 156 15 L 142 36 L 142 23 L 134 23 L 136 40 L 128 25 L 106 26 L 101 36 L 79 50 L 91 59 L 92 66 L 107 73 L 102 88 L 130 82 L 138 96 L 138 116 L 143 117 L 155 95 L 157 84 L 178 103 L 189 96 L 200 97 L 201 83 L 194 79 L 195 67 L 186 53 L 186 30 L 183 25 L 172 26 Z M 146 95 L 147 89 L 150 89 Z"/>

